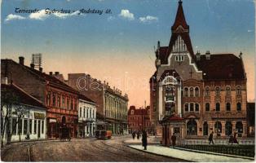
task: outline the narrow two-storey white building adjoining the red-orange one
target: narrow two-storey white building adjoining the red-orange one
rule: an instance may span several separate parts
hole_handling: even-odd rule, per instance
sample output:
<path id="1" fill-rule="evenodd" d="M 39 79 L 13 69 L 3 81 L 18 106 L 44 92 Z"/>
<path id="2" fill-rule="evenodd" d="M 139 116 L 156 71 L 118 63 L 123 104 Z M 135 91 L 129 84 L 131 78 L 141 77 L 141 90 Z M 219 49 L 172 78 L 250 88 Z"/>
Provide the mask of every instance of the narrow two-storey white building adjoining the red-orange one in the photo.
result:
<path id="1" fill-rule="evenodd" d="M 95 136 L 96 104 L 85 95 L 79 95 L 77 137 Z"/>

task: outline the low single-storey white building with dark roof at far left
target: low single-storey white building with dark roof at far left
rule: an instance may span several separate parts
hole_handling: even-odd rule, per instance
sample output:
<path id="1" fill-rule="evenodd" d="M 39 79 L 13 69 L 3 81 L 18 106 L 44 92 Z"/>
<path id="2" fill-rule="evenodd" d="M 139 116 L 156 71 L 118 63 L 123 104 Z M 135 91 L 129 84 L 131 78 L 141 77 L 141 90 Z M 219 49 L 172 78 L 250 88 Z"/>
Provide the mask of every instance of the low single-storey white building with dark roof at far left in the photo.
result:
<path id="1" fill-rule="evenodd" d="M 1 131 L 4 131 L 3 142 L 7 142 L 7 129 L 11 130 L 11 141 L 46 139 L 46 107 L 41 101 L 29 95 L 15 84 L 2 84 L 1 95 L 15 97 L 15 103 L 11 100 L 10 127 L 7 127 L 7 105 L 3 104 L 1 114 Z M 7 98 L 8 99 L 8 98 Z M 10 98 L 11 99 L 11 98 Z M 20 122 L 18 122 L 20 121 Z M 3 130 L 4 129 L 4 130 Z M 1 133 L 2 136 L 2 133 Z"/>

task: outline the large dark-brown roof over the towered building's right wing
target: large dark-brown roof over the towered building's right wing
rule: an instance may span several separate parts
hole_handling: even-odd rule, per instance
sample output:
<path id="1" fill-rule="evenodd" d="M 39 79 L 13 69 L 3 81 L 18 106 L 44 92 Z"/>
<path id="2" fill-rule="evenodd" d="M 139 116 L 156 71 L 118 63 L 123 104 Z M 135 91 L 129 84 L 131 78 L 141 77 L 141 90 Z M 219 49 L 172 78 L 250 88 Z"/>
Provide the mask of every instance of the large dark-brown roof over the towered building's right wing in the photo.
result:
<path id="1" fill-rule="evenodd" d="M 201 55 L 200 60 L 196 60 L 196 65 L 197 68 L 203 71 L 204 80 L 246 78 L 242 59 L 233 54 L 210 55 L 210 59 L 206 59 L 205 55 Z"/>

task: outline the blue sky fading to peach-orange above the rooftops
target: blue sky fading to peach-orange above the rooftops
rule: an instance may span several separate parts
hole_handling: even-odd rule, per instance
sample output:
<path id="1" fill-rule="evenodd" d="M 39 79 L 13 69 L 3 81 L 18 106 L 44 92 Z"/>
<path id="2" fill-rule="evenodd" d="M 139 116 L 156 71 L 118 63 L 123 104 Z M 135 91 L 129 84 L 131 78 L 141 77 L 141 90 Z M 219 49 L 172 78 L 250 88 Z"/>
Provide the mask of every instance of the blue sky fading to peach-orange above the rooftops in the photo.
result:
<path id="1" fill-rule="evenodd" d="M 129 106 L 142 107 L 156 70 L 154 46 L 168 45 L 177 8 L 178 0 L 2 0 L 1 57 L 22 55 L 29 65 L 41 53 L 44 72 L 66 79 L 88 73 L 127 93 Z M 183 0 L 194 51 L 242 51 L 249 101 L 255 98 L 254 8 L 253 0 Z M 24 13 L 29 10 L 36 13 Z"/>

